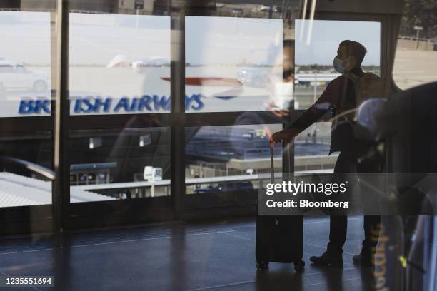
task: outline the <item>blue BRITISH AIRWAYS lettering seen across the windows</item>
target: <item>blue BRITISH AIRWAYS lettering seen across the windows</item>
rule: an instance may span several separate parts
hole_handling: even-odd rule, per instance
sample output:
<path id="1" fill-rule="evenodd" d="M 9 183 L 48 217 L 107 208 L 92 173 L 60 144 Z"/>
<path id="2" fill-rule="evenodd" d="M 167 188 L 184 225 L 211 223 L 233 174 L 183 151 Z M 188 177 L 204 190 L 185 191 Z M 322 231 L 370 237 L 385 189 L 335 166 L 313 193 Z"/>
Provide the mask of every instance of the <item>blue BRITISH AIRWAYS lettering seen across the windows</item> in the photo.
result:
<path id="1" fill-rule="evenodd" d="M 201 111 L 205 97 L 201 94 L 185 96 L 186 111 Z M 171 97 L 143 95 L 121 98 L 111 96 L 71 96 L 70 113 L 76 114 L 117 114 L 117 113 L 154 113 L 171 110 Z M 50 114 L 50 99 L 22 99 L 19 103 L 19 115 Z"/>

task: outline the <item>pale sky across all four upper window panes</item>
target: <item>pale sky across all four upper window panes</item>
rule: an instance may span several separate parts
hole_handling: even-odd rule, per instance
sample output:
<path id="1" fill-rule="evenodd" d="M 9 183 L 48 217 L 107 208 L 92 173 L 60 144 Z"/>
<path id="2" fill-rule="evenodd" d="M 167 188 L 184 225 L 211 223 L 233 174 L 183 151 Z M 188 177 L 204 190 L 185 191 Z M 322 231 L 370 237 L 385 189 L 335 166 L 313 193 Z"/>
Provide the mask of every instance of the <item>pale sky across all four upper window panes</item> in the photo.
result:
<path id="1" fill-rule="evenodd" d="M 49 64 L 48 12 L 0 12 L 1 56 L 11 61 Z M 128 61 L 170 59 L 169 16 L 71 14 L 72 64 L 106 65 L 119 54 Z M 364 21 L 296 21 L 296 64 L 332 64 L 338 43 L 360 41 L 368 48 L 364 65 L 378 65 L 380 24 Z M 282 19 L 186 18 L 186 62 L 193 64 L 278 64 L 282 57 Z M 309 42 L 308 42 L 309 39 Z M 31 48 L 31 51 L 29 49 Z"/>

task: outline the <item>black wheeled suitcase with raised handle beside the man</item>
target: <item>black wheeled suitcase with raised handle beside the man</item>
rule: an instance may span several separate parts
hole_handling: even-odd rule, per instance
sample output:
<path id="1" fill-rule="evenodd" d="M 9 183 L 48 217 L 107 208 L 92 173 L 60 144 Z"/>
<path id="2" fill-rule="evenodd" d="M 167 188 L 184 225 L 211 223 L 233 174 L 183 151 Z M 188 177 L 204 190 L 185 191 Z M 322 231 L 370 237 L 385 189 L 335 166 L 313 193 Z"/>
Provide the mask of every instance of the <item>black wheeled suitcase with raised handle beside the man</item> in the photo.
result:
<path id="1" fill-rule="evenodd" d="M 273 148 L 270 149 L 271 183 L 274 183 Z M 303 270 L 303 215 L 256 216 L 256 267 L 269 262 L 293 262 Z"/>

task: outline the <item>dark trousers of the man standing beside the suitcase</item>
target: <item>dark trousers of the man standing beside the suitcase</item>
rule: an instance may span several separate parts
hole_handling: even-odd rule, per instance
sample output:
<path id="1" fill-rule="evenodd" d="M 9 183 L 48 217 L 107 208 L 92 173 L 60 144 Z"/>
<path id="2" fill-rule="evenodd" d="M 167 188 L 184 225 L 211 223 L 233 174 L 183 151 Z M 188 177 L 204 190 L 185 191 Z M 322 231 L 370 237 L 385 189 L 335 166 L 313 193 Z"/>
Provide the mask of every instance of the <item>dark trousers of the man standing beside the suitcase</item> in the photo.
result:
<path id="1" fill-rule="evenodd" d="M 358 155 L 352 153 L 340 153 L 336 166 L 334 168 L 333 183 L 344 183 L 346 180 L 346 173 L 373 173 L 377 168 L 375 163 L 361 163 L 357 162 Z M 353 189 L 358 186 L 361 190 L 366 191 L 361 185 L 351 185 L 348 181 L 348 189 Z M 347 193 L 345 196 L 348 196 Z M 341 198 L 341 197 L 340 197 Z M 348 200 L 347 197 L 341 198 Z M 364 240 L 363 240 L 363 255 L 370 255 L 372 247 L 376 247 L 378 240 L 379 223 L 381 223 L 381 216 L 379 215 L 364 215 Z M 339 213 L 331 214 L 329 223 L 329 252 L 343 252 L 343 245 L 346 242 L 346 233 L 348 230 L 348 218 L 345 210 Z"/>

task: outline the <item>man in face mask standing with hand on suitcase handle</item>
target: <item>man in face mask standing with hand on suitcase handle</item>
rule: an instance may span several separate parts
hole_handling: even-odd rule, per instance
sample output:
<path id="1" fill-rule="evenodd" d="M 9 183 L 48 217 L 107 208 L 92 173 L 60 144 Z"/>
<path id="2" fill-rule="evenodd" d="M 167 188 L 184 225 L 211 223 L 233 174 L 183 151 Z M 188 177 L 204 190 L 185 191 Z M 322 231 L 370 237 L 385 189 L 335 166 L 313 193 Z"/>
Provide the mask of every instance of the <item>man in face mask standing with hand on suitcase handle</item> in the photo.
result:
<path id="1" fill-rule="evenodd" d="M 333 111 L 338 115 L 356 108 L 355 88 L 350 76 L 352 74 L 356 77 L 363 76 L 361 63 L 366 52 L 366 48 L 356 41 L 342 41 L 338 46 L 337 56 L 333 59 L 333 66 L 338 73 L 341 73 L 341 76 L 328 84 L 316 103 L 308 108 L 296 122 L 283 131 L 273 133 L 271 141 L 291 141 L 328 111 Z M 370 141 L 362 141 L 354 136 L 351 123 L 341 121 L 333 123 L 329 153 L 340 152 L 334 168 L 333 182 L 343 183 L 343 173 L 377 172 L 376 163 L 358 163 L 358 158 L 365 155 L 371 146 Z M 349 185 L 348 188 L 351 187 L 353 185 Z M 377 243 L 375 231 L 379 229 L 380 220 L 380 216 L 364 216 L 365 239 L 361 254 L 353 256 L 354 262 L 372 265 L 372 249 Z M 346 242 L 347 222 L 345 212 L 331 213 L 327 250 L 321 256 L 311 257 L 311 262 L 318 265 L 343 267 L 342 253 L 344 242 Z"/>

